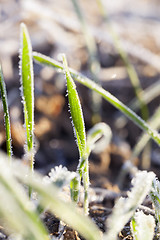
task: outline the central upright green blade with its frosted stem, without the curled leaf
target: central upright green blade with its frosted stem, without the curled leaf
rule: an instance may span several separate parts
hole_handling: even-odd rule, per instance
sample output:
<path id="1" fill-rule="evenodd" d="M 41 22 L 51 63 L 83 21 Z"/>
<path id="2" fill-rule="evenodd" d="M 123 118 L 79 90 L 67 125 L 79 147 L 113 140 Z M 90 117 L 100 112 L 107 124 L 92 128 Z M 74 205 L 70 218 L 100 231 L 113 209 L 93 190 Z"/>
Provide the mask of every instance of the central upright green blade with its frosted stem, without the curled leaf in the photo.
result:
<path id="1" fill-rule="evenodd" d="M 82 108 L 79 100 L 79 96 L 76 90 L 76 85 L 70 75 L 67 60 L 65 55 L 62 55 L 64 71 L 67 81 L 67 92 L 68 92 L 68 100 L 69 100 L 69 107 L 72 117 L 73 128 L 75 131 L 75 136 L 77 139 L 77 145 L 79 149 L 80 159 L 83 159 L 84 165 L 82 168 L 78 169 L 80 179 L 83 178 L 84 184 L 84 212 L 88 214 L 88 188 L 89 188 L 89 174 L 88 174 L 88 156 L 86 154 L 86 132 L 85 132 L 85 125 L 84 125 L 84 118 L 82 113 Z M 81 161 L 81 160 L 80 160 Z M 76 179 L 71 182 L 71 186 L 76 187 L 73 189 L 72 193 L 77 192 L 77 183 L 75 184 Z M 75 197 L 72 197 L 75 198 Z M 77 197 L 76 197 L 77 199 Z"/>

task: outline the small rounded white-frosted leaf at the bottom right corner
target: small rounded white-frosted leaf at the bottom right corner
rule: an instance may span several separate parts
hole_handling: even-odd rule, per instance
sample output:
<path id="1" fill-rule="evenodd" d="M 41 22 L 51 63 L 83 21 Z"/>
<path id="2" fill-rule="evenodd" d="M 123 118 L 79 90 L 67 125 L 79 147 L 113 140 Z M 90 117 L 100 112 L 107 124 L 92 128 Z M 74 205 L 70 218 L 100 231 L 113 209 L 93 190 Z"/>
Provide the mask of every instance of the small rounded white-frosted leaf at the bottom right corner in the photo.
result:
<path id="1" fill-rule="evenodd" d="M 155 220 L 142 211 L 136 212 L 131 221 L 131 231 L 134 240 L 152 240 L 154 237 Z"/>

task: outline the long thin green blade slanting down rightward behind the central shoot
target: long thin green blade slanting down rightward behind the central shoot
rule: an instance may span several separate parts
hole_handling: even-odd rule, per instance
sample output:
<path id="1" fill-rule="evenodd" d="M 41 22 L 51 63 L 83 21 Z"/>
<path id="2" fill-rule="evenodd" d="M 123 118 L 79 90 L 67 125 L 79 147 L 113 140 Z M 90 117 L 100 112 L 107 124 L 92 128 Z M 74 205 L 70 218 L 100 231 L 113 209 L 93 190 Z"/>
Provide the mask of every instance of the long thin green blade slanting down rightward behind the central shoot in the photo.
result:
<path id="1" fill-rule="evenodd" d="M 57 61 L 53 60 L 52 58 L 46 57 L 45 55 L 39 54 L 34 52 L 33 53 L 34 59 L 39 62 L 40 64 L 51 66 L 57 71 L 62 70 L 63 71 L 63 65 L 58 63 Z M 80 73 L 72 70 L 69 68 L 69 71 L 74 77 L 74 79 L 81 84 L 85 85 L 86 87 L 96 91 L 99 93 L 104 99 L 106 99 L 108 102 L 110 102 L 114 107 L 119 109 L 122 113 L 124 113 L 129 119 L 131 119 L 137 126 L 139 126 L 143 131 L 147 132 L 150 137 L 158 144 L 160 145 L 160 135 L 157 131 L 154 131 L 150 128 L 150 126 L 141 119 L 135 112 L 133 112 L 130 108 L 128 108 L 125 104 L 123 104 L 121 101 L 119 101 L 115 96 L 113 96 L 111 93 L 100 87 L 98 84 L 93 83 L 92 80 L 90 80 L 87 77 L 84 77 Z"/>

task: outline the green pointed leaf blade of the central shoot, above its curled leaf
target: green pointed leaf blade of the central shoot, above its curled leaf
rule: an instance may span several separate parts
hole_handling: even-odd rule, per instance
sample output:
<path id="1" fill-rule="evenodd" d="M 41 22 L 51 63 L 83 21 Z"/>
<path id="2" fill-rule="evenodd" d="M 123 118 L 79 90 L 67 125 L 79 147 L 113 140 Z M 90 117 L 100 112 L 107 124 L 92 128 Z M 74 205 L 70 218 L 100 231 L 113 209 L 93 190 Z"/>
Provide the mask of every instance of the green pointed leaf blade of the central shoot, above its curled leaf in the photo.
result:
<path id="1" fill-rule="evenodd" d="M 79 96 L 76 90 L 76 85 L 68 70 L 67 60 L 64 54 L 62 55 L 62 59 L 63 59 L 65 76 L 67 81 L 68 100 L 69 100 L 71 117 L 73 121 L 73 127 L 76 132 L 76 138 L 77 138 L 80 157 L 82 157 L 86 150 L 86 133 L 85 133 L 85 125 L 84 125 L 82 108 L 81 108 Z"/>

